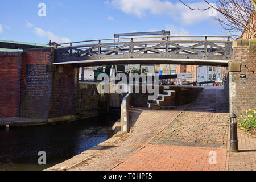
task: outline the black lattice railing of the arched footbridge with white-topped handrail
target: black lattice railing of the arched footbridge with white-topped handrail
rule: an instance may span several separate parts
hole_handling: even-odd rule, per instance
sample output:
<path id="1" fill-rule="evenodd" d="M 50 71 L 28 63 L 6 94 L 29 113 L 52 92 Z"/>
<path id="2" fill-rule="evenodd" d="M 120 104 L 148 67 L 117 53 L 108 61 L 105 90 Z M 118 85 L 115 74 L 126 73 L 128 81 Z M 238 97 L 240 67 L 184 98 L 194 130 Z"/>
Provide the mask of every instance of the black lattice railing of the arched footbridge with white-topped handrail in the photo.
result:
<path id="1" fill-rule="evenodd" d="M 230 60 L 231 39 L 232 36 L 150 36 L 62 43 L 55 45 L 55 63 L 151 58 Z"/>

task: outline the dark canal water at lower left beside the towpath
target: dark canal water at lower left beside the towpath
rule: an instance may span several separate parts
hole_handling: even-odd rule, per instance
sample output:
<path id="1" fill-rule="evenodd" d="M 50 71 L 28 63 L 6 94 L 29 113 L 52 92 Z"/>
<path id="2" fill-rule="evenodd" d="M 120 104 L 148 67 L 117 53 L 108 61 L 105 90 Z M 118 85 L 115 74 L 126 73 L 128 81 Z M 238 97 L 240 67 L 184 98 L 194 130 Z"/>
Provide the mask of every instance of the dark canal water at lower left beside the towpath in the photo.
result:
<path id="1" fill-rule="evenodd" d="M 104 115 L 57 125 L 0 129 L 1 170 L 43 170 L 104 142 L 119 115 Z M 46 165 L 39 165 L 39 151 Z"/>

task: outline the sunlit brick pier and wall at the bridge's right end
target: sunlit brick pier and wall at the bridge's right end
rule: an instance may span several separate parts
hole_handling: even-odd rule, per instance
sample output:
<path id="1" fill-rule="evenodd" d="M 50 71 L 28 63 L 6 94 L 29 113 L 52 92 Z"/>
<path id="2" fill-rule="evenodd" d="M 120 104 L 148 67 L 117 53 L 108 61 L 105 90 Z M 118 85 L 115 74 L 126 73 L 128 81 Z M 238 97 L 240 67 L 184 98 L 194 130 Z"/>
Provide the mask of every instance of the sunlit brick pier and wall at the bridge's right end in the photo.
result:
<path id="1" fill-rule="evenodd" d="M 230 113 L 240 115 L 256 109 L 256 39 L 234 40 L 233 62 L 240 63 L 241 67 L 240 71 L 230 67 Z M 246 78 L 241 78 L 241 74 Z"/>

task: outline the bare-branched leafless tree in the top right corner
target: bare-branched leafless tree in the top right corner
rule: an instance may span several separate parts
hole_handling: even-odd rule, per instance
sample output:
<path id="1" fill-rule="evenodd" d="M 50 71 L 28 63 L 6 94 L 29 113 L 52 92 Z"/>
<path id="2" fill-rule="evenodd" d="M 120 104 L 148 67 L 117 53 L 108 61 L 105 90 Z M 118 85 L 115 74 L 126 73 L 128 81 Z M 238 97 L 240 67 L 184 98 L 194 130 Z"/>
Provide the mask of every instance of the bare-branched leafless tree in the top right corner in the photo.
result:
<path id="1" fill-rule="evenodd" d="M 254 14 L 256 14 L 256 0 L 216 0 L 216 6 L 207 0 L 203 0 L 208 5 L 205 9 L 195 9 L 183 1 L 179 1 L 187 6 L 189 10 L 205 11 L 215 9 L 222 17 L 213 19 L 216 19 L 225 30 L 228 30 L 234 36 L 238 36 L 237 34 L 233 34 L 237 31 L 246 31 L 250 36 L 255 36 L 256 25 Z"/>

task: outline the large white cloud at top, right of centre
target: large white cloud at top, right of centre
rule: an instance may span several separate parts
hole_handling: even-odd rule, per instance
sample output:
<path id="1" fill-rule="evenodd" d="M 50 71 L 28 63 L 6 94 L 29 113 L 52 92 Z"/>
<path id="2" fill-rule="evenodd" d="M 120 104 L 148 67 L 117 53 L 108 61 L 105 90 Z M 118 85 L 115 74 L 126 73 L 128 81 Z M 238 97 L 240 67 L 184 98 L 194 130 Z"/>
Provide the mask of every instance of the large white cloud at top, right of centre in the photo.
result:
<path id="1" fill-rule="evenodd" d="M 124 13 L 133 14 L 139 18 L 148 12 L 151 14 L 168 14 L 170 18 L 182 21 L 184 24 L 201 22 L 210 18 L 209 10 L 191 11 L 182 3 L 172 3 L 160 0 L 112 0 L 111 5 Z M 197 8 L 209 7 L 205 2 L 188 3 L 189 6 Z"/>

